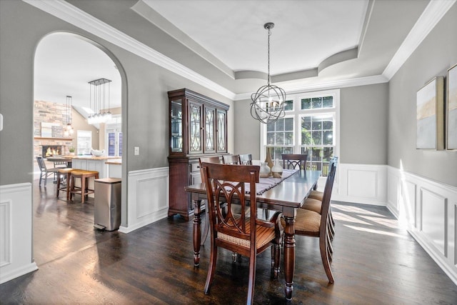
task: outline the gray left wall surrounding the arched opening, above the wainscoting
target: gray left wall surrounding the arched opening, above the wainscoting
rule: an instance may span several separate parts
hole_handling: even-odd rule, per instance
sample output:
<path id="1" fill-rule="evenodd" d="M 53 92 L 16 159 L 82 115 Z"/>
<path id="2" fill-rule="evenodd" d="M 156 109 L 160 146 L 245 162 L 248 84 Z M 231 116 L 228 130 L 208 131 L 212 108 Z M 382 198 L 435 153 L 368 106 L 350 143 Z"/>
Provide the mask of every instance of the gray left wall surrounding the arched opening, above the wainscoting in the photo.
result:
<path id="1" fill-rule="evenodd" d="M 119 67 L 123 82 L 124 175 L 127 171 L 168 166 L 166 91 L 186 87 L 233 106 L 229 99 L 23 1 L 1 0 L 0 113 L 4 115 L 4 130 L 0 131 L 0 185 L 33 181 L 34 51 L 40 39 L 54 31 L 69 31 L 96 41 Z M 229 126 L 229 135 L 233 136 L 233 126 Z M 233 150 L 231 143 L 233 140 L 229 141 L 229 149 Z M 139 156 L 129 154 L 134 146 L 140 146 Z"/>

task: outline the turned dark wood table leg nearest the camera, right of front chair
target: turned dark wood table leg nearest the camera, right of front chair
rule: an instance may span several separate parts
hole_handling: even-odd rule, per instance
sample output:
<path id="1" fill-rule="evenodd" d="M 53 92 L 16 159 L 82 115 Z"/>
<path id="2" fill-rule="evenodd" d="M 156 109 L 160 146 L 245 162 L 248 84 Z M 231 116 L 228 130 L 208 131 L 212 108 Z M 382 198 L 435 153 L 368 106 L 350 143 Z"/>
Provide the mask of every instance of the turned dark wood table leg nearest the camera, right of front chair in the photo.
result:
<path id="1" fill-rule="evenodd" d="M 284 217 L 286 228 L 284 229 L 284 294 L 286 299 L 292 299 L 293 290 L 293 272 L 295 271 L 295 229 L 293 224 L 295 219 L 291 216 Z"/>

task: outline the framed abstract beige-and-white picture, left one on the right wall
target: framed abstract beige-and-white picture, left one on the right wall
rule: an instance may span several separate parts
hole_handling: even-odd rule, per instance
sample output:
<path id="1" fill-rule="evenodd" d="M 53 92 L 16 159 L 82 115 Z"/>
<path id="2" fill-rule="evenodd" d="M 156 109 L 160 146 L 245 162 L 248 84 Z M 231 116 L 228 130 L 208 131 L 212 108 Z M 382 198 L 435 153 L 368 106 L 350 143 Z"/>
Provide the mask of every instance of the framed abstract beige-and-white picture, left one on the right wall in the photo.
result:
<path id="1" fill-rule="evenodd" d="M 416 149 L 444 149 L 444 77 L 436 76 L 417 91 Z"/>

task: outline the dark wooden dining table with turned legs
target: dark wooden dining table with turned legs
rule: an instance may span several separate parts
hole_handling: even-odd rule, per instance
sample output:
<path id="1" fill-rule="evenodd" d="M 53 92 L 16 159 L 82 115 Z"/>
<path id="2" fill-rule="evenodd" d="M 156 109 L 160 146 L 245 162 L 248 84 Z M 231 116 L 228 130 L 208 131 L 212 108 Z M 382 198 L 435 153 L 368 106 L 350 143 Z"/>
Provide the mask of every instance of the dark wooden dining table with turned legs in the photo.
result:
<path id="1" fill-rule="evenodd" d="M 276 186 L 257 195 L 257 205 L 261 209 L 282 211 L 286 222 L 284 228 L 284 294 L 287 300 L 292 299 L 293 272 L 295 269 L 295 229 L 294 222 L 297 209 L 303 205 L 311 190 L 316 189 L 321 171 L 297 171 Z M 194 204 L 194 265 L 200 264 L 201 213 L 204 211 L 202 201 L 206 199 L 205 184 L 193 184 L 184 188 L 191 194 Z M 246 194 L 248 196 L 248 194 Z"/>

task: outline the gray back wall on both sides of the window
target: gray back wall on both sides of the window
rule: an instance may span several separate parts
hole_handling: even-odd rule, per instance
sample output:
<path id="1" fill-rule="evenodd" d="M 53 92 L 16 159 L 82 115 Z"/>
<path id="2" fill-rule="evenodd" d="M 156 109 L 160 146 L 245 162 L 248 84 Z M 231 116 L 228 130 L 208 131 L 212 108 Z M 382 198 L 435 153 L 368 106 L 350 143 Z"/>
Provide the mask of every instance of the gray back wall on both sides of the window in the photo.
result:
<path id="1" fill-rule="evenodd" d="M 250 100 L 235 102 L 235 153 L 260 157 L 260 124 L 251 117 Z M 340 91 L 340 161 L 387 162 L 388 84 Z"/>

